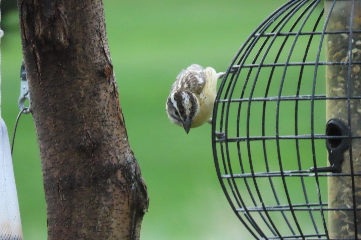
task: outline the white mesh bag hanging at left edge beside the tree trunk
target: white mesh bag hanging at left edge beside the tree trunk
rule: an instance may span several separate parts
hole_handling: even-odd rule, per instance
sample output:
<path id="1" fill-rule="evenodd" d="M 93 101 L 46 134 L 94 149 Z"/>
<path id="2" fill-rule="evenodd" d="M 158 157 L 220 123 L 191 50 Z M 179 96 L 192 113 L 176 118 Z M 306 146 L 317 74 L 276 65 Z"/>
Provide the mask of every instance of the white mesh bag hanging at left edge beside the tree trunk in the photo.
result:
<path id="1" fill-rule="evenodd" d="M 2 36 L 3 30 L 0 30 L 0 39 Z M 22 239 L 19 203 L 16 193 L 8 130 L 1 117 L 0 110 L 0 240 Z"/>

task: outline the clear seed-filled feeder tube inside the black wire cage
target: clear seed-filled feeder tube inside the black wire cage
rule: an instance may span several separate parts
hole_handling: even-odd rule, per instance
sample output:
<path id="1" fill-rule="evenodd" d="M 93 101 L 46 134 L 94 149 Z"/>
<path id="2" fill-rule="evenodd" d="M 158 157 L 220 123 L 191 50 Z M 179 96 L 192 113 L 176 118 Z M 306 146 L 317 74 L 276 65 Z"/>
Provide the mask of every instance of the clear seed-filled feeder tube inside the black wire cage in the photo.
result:
<path id="1" fill-rule="evenodd" d="M 326 97 L 343 98 L 326 100 L 326 121 L 340 119 L 346 126 L 350 124 L 350 136 L 361 136 L 361 99 L 355 98 L 361 96 L 361 33 L 354 32 L 361 30 L 360 1 L 343 0 L 334 4 L 333 0 L 325 0 L 325 16 L 326 62 L 334 63 L 326 65 Z M 329 135 L 338 135 L 338 131 L 331 131 Z M 345 140 L 349 139 L 350 147 L 343 152 L 340 170 L 351 174 L 353 168 L 353 173 L 360 173 L 361 139 Z M 334 140 L 331 142 L 337 144 L 342 139 Z M 355 232 L 361 239 L 361 211 L 356 210 L 356 214 L 354 211 L 361 208 L 360 176 L 329 176 L 328 208 L 331 209 L 328 212 L 330 239 L 356 239 Z"/>

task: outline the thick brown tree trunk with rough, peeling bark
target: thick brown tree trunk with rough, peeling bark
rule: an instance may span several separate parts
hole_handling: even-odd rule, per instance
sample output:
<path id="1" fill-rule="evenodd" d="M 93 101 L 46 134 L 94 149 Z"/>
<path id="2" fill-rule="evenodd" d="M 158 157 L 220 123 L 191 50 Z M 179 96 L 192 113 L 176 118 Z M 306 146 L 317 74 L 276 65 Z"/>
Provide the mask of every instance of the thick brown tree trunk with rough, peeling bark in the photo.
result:
<path id="1" fill-rule="evenodd" d="M 48 240 L 139 239 L 147 187 L 129 146 L 102 0 L 17 0 Z"/>

